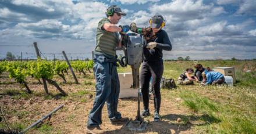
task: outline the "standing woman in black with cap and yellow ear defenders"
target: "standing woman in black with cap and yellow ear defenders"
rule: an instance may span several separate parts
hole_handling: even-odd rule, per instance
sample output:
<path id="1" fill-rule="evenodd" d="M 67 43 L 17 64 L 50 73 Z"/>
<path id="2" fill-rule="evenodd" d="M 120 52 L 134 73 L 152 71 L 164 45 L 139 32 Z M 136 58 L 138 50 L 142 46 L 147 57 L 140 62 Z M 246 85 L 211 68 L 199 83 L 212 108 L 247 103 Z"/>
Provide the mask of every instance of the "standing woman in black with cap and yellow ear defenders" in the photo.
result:
<path id="1" fill-rule="evenodd" d="M 162 30 L 165 20 L 161 15 L 155 15 L 150 19 L 149 28 L 138 28 L 135 23 L 131 23 L 131 31 L 143 34 L 147 45 L 143 46 L 143 63 L 141 64 L 140 83 L 143 95 L 144 111 L 143 117 L 150 115 L 149 85 L 152 77 L 152 90 L 154 95 L 154 121 L 159 121 L 159 110 L 161 105 L 160 83 L 163 75 L 163 53 L 162 50 L 172 50 L 168 34 Z"/>

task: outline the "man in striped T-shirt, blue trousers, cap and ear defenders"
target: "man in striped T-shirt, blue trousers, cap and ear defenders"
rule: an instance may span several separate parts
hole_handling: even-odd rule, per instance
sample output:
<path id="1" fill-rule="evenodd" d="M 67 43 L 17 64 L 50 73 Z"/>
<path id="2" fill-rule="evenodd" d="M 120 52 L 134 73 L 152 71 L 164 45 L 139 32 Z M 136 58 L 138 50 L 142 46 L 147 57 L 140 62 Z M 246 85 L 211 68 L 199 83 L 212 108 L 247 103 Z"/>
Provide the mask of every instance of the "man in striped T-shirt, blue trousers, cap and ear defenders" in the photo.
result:
<path id="1" fill-rule="evenodd" d="M 96 47 L 94 52 L 94 77 L 96 80 L 96 94 L 93 108 L 88 115 L 87 131 L 101 132 L 102 108 L 106 102 L 108 117 L 112 124 L 124 123 L 128 119 L 122 118 L 118 112 L 118 97 L 120 92 L 118 71 L 116 69 L 116 47 L 121 46 L 119 34 L 130 30 L 129 26 L 118 27 L 118 21 L 125 16 L 122 10 L 112 5 L 106 10 L 106 18 L 98 23 Z"/>

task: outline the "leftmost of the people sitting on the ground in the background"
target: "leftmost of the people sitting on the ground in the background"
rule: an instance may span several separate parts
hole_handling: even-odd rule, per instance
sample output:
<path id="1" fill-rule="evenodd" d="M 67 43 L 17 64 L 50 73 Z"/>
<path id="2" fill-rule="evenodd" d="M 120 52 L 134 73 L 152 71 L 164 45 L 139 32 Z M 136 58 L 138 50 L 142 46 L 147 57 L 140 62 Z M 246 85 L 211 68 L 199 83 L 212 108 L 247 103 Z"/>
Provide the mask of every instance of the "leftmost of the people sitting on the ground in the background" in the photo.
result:
<path id="1" fill-rule="evenodd" d="M 197 77 L 192 76 L 194 73 L 193 68 L 187 68 L 182 74 L 180 74 L 177 84 L 178 85 L 189 85 L 194 84 L 193 81 L 198 81 Z"/>

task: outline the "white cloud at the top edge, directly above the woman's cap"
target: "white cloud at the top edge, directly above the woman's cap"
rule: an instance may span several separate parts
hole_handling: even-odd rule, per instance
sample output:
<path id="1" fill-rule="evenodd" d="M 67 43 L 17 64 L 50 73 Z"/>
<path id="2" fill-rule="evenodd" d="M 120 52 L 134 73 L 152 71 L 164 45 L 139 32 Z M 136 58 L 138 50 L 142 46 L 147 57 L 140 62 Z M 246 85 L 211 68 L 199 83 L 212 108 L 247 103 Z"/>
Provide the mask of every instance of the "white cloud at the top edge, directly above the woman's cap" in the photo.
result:
<path id="1" fill-rule="evenodd" d="M 205 20 L 206 17 L 218 16 L 225 13 L 221 6 L 212 3 L 205 5 L 202 0 L 175 0 L 162 5 L 153 5 L 150 8 L 152 15 L 159 13 L 166 17 L 169 22 L 184 22 L 189 20 Z"/>

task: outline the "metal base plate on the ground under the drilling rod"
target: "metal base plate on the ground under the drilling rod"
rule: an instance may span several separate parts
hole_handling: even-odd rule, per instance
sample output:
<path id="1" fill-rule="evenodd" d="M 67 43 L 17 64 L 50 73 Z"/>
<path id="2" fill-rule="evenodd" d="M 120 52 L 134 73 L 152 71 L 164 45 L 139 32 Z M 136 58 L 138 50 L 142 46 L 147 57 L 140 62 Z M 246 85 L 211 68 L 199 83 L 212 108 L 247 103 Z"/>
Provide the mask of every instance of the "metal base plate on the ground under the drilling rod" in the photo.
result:
<path id="1" fill-rule="evenodd" d="M 126 124 L 126 128 L 129 128 L 131 131 L 144 131 L 147 129 L 148 121 L 129 121 Z"/>

